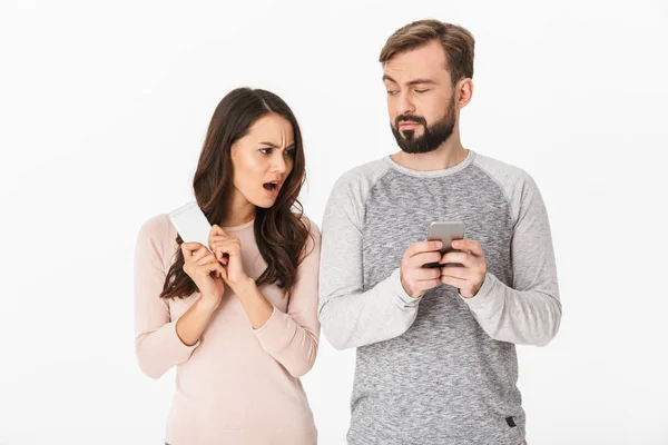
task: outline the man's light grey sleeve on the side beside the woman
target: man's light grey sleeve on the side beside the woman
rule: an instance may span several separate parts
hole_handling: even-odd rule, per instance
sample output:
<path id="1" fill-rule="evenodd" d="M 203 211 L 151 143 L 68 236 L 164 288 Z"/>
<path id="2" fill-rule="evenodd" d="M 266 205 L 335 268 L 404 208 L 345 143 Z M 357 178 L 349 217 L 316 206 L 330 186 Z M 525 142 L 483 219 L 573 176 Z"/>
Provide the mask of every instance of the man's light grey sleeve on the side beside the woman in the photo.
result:
<path id="1" fill-rule="evenodd" d="M 362 227 L 364 202 L 373 187 L 356 171 L 334 185 L 323 218 L 320 320 L 336 349 L 370 345 L 405 333 L 420 298 L 406 294 L 400 268 L 364 289 Z"/>

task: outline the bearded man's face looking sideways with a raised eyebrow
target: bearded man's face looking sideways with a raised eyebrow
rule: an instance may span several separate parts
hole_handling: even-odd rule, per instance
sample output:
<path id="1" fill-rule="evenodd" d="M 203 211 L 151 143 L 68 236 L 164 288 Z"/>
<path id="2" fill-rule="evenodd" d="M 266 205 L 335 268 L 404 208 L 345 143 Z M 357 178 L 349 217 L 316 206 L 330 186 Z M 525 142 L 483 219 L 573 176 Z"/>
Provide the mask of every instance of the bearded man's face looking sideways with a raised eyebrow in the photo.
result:
<path id="1" fill-rule="evenodd" d="M 450 138 L 456 123 L 455 98 L 439 42 L 392 57 L 383 81 L 390 126 L 403 151 L 433 151 Z"/>

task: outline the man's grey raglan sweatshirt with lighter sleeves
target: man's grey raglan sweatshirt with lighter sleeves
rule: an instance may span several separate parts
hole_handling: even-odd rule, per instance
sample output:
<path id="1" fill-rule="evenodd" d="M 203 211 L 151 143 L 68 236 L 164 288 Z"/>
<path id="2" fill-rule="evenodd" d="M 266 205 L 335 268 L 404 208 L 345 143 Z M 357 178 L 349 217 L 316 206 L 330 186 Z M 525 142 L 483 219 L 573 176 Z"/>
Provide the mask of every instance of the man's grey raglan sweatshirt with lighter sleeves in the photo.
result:
<path id="1" fill-rule="evenodd" d="M 448 285 L 414 299 L 405 249 L 432 221 L 461 220 L 488 274 L 473 298 Z M 323 219 L 320 320 L 357 348 L 351 445 L 518 445 L 524 412 L 515 344 L 546 345 L 561 304 L 548 215 L 523 170 L 472 150 L 414 171 L 390 157 L 343 175 Z"/>

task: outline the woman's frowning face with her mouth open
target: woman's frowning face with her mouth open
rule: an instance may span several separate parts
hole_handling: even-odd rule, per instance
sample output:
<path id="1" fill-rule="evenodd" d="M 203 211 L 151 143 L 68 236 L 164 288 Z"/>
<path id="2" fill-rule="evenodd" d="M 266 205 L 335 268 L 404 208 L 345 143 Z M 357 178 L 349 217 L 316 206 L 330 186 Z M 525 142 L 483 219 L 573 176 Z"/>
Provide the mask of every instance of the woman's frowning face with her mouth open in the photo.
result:
<path id="1" fill-rule="evenodd" d="M 268 113 L 232 146 L 233 184 L 250 204 L 269 208 L 293 169 L 295 140 L 287 119 Z"/>

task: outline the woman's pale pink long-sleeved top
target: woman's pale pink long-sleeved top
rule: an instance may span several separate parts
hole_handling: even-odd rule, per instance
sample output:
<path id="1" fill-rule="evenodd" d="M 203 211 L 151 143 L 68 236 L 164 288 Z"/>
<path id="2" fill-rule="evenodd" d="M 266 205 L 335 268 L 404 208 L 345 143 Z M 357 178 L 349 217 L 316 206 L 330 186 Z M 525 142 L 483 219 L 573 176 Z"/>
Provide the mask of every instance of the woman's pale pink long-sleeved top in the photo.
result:
<path id="1" fill-rule="evenodd" d="M 261 291 L 274 305 L 264 326 L 253 329 L 238 298 L 226 286 L 220 307 L 199 342 L 184 345 L 176 320 L 199 298 L 159 298 L 177 250 L 166 215 L 148 220 L 135 259 L 136 353 L 141 370 L 158 378 L 176 366 L 165 441 L 170 445 L 316 443 L 313 415 L 299 376 L 317 353 L 320 231 L 311 224 L 308 254 L 289 298 L 276 286 Z M 253 222 L 226 229 L 240 239 L 246 273 L 266 267 Z"/>

